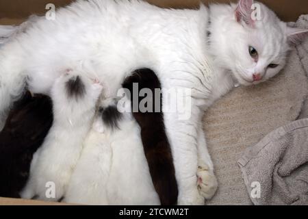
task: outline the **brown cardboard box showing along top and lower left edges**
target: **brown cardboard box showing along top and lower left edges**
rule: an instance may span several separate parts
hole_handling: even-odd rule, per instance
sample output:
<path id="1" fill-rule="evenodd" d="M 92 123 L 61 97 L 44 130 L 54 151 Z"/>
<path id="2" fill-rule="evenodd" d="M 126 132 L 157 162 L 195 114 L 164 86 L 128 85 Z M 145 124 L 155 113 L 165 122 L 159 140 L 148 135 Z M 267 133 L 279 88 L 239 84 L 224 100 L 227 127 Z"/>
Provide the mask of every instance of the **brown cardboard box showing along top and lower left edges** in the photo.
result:
<path id="1" fill-rule="evenodd" d="M 109 1 L 109 0 L 105 0 Z M 148 0 L 163 8 L 196 8 L 198 0 Z M 231 0 L 237 1 L 237 0 Z M 283 21 L 296 21 L 300 14 L 308 14 L 307 0 L 260 0 L 266 3 Z M 0 0 L 0 24 L 18 24 L 31 14 L 44 14 L 47 3 L 56 8 L 67 5 L 71 0 Z M 204 3 L 229 3 L 229 0 L 204 0 Z M 0 205 L 63 205 L 42 201 L 26 201 L 13 198 L 0 198 Z"/>

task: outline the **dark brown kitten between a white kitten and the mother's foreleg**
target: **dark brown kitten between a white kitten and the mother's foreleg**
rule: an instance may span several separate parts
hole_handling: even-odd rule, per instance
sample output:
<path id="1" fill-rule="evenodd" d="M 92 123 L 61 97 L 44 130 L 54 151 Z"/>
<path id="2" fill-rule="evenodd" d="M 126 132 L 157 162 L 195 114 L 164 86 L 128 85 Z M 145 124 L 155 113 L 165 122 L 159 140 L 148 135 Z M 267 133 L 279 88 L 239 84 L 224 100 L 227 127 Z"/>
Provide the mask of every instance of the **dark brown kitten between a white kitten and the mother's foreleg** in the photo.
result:
<path id="1" fill-rule="evenodd" d="M 161 89 L 159 79 L 153 70 L 143 68 L 134 71 L 133 75 L 127 77 L 123 88 L 129 89 L 133 95 L 133 83 L 138 83 L 138 93 L 142 88 L 149 88 L 155 93 L 155 88 Z M 154 96 L 154 95 L 153 95 Z M 133 96 L 136 98 L 137 96 Z M 144 97 L 138 96 L 138 103 Z M 162 94 L 160 94 L 162 99 Z M 177 204 L 177 181 L 175 179 L 175 167 L 173 166 L 170 144 L 164 127 L 164 115 L 162 113 L 162 101 L 153 101 L 153 109 L 159 112 L 133 112 L 133 117 L 141 127 L 141 138 L 144 153 L 149 164 L 152 181 L 162 205 Z M 133 99 L 131 100 L 133 104 Z M 159 104 L 157 106 L 157 104 Z M 139 104 L 138 104 L 139 105 Z"/>

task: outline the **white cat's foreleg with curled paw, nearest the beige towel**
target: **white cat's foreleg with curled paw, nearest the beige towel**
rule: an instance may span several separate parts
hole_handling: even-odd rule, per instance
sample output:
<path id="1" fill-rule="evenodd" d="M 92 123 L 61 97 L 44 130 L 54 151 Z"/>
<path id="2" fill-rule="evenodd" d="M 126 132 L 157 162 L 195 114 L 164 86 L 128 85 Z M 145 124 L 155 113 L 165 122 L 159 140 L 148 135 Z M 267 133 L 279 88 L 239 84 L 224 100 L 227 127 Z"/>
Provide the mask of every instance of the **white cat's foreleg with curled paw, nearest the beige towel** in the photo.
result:
<path id="1" fill-rule="evenodd" d="M 205 134 L 200 126 L 198 129 L 198 190 L 206 199 L 211 199 L 217 188 L 218 182 L 214 175 L 214 165 L 211 162 L 209 151 L 207 151 L 207 144 L 205 142 Z"/>

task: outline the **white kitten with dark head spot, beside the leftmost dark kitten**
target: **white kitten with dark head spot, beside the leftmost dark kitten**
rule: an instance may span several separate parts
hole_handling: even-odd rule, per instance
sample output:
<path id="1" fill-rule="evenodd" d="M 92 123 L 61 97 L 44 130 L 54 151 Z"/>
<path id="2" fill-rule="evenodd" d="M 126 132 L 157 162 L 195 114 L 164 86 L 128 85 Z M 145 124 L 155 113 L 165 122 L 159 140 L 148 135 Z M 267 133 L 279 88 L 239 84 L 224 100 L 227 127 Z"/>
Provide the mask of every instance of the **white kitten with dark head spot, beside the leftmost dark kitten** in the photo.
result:
<path id="1" fill-rule="evenodd" d="M 79 159 L 82 142 L 90 130 L 102 86 L 76 70 L 66 70 L 51 89 L 53 125 L 34 154 L 22 198 L 59 201 Z M 55 194 L 47 196 L 54 185 Z"/>

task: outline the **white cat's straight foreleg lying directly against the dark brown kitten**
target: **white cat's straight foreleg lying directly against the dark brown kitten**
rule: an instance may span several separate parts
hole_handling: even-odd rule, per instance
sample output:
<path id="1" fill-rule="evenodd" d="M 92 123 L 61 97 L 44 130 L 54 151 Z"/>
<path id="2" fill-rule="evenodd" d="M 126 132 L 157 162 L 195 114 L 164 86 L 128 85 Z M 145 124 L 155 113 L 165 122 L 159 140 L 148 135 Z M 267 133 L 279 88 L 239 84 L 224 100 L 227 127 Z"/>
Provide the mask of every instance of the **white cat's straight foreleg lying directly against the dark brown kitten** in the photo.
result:
<path id="1" fill-rule="evenodd" d="M 198 120 L 179 120 L 177 114 L 166 112 L 164 118 L 179 187 L 178 205 L 204 205 L 205 199 L 196 186 Z"/>

